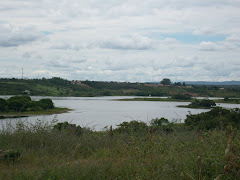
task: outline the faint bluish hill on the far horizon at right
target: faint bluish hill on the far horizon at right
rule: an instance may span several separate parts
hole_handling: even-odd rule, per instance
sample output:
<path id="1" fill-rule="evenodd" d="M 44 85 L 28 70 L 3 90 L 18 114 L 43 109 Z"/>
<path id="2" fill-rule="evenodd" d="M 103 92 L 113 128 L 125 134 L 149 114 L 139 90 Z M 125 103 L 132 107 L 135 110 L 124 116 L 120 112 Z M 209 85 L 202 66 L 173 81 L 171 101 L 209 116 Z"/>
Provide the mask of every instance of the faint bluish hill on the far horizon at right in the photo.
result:
<path id="1" fill-rule="evenodd" d="M 233 86 L 240 85 L 240 81 L 223 81 L 223 82 L 210 82 L 210 81 L 186 81 L 188 85 L 216 85 L 216 86 Z"/>

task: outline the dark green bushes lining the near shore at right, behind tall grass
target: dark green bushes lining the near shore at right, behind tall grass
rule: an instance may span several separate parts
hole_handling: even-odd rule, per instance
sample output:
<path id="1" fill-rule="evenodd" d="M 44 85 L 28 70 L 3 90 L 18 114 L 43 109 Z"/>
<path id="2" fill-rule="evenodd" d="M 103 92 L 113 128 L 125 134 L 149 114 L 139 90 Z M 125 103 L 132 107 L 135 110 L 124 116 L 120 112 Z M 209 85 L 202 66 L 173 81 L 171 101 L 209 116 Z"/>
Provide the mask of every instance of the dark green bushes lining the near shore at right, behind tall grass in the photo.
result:
<path id="1" fill-rule="evenodd" d="M 117 132 L 134 132 L 143 129 L 162 130 L 165 132 L 173 132 L 179 127 L 185 130 L 213 130 L 227 129 L 228 126 L 240 129 L 240 109 L 224 109 L 215 107 L 209 112 L 200 114 L 188 114 L 185 123 L 179 124 L 169 122 L 166 118 L 156 118 L 150 121 L 150 126 L 145 122 L 131 121 L 123 122 L 116 128 Z"/>

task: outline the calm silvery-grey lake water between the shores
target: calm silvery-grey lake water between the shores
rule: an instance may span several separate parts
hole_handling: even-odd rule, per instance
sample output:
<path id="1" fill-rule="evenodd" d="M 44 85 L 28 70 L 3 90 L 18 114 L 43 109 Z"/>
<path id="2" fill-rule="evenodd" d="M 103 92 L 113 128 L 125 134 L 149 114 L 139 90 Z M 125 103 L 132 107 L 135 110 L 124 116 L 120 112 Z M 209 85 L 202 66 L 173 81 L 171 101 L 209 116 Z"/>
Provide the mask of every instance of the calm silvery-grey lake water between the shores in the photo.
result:
<path id="1" fill-rule="evenodd" d="M 9 98 L 9 96 L 0 96 Z M 186 115 L 191 112 L 197 114 L 206 112 L 206 109 L 178 108 L 177 105 L 187 105 L 188 102 L 152 102 L 152 101 L 117 101 L 122 98 L 134 97 L 38 97 L 32 96 L 33 100 L 50 98 L 57 107 L 73 109 L 69 113 L 57 115 L 33 116 L 20 118 L 23 121 L 34 123 L 37 119 L 51 121 L 55 117 L 60 122 L 68 121 L 82 127 L 90 127 L 101 130 L 106 126 L 113 126 L 123 121 L 139 120 L 149 123 L 153 118 L 167 118 L 168 120 L 181 120 L 184 122 Z M 218 104 L 226 108 L 240 108 L 239 104 Z M 1 120 L 0 127 L 5 122 L 16 122 L 18 119 Z"/>

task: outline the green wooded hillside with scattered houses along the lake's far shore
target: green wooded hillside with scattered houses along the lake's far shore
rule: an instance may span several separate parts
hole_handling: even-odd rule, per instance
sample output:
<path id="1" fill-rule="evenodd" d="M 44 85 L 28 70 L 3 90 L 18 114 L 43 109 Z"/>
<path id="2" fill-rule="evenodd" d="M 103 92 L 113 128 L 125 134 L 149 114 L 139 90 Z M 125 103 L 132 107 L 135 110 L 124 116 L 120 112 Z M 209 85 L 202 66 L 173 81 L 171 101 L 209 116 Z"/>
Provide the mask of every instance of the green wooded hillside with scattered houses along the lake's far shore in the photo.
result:
<path id="1" fill-rule="evenodd" d="M 38 96 L 174 96 L 240 98 L 240 86 L 186 86 L 163 79 L 162 84 L 103 81 L 68 81 L 51 79 L 0 79 L 1 95 L 21 95 L 30 92 Z"/>

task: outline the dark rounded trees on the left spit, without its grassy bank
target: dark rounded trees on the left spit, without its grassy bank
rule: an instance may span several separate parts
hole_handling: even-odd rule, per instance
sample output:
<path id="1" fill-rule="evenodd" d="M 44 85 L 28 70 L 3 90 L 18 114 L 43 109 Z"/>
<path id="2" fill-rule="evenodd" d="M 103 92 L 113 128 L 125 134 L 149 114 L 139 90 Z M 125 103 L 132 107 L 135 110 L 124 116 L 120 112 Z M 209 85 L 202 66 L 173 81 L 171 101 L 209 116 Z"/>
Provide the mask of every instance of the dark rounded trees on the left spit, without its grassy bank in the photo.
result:
<path id="1" fill-rule="evenodd" d="M 7 100 L 0 98 L 0 112 L 41 111 L 53 108 L 54 104 L 49 98 L 39 101 L 33 101 L 27 95 L 13 96 Z"/>

